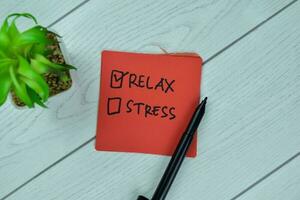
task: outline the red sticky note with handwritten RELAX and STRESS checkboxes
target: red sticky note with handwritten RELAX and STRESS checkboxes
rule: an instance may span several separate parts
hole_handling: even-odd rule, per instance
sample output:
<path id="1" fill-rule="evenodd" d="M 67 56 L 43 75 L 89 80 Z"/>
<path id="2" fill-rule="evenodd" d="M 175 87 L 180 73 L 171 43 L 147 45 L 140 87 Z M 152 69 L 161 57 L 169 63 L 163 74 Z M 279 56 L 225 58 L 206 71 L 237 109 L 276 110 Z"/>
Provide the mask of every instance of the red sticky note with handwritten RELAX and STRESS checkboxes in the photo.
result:
<path id="1" fill-rule="evenodd" d="M 200 99 L 197 54 L 103 51 L 96 149 L 172 155 Z M 195 157 L 197 137 L 188 156 Z"/>

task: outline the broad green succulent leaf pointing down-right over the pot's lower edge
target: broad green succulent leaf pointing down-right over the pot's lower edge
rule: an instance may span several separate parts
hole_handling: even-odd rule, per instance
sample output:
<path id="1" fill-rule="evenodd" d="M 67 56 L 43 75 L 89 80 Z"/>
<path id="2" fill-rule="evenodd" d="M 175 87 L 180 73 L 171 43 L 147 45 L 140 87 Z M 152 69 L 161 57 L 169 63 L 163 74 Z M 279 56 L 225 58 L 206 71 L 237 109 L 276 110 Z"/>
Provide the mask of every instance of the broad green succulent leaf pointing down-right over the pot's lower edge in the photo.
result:
<path id="1" fill-rule="evenodd" d="M 44 78 L 35 72 L 27 60 L 22 57 L 18 57 L 19 69 L 18 73 L 22 75 L 20 79 L 31 89 L 33 89 L 43 101 L 46 101 L 49 97 L 49 87 Z"/>

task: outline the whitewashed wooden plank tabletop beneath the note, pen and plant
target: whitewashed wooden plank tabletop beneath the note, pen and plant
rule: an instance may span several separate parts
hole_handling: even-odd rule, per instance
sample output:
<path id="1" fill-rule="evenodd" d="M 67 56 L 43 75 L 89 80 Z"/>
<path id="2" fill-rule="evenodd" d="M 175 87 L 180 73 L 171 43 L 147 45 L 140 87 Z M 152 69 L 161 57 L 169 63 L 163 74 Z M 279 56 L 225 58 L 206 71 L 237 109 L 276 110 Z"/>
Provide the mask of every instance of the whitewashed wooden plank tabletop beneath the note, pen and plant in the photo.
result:
<path id="1" fill-rule="evenodd" d="M 1 21 L 24 11 L 63 36 L 78 71 L 49 109 L 0 108 L 1 200 L 150 197 L 169 158 L 96 152 L 94 135 L 100 52 L 160 47 L 202 55 L 209 97 L 199 154 L 167 199 L 300 199 L 299 1 L 0 2 Z"/>

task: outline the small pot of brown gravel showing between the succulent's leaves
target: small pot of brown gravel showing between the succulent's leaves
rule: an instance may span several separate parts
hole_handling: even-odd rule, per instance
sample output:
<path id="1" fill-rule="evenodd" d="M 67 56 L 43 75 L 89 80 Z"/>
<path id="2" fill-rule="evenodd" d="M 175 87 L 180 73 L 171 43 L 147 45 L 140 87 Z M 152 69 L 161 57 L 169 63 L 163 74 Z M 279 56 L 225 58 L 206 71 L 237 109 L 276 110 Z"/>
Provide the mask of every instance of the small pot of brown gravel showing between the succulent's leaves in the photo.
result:
<path id="1" fill-rule="evenodd" d="M 54 31 L 54 30 L 50 30 L 50 31 L 56 33 L 56 31 Z M 65 45 L 64 45 L 63 41 L 61 40 L 61 38 L 57 37 L 56 35 L 54 35 L 53 33 L 50 33 L 50 32 L 48 34 L 48 37 L 55 38 L 55 40 L 58 41 L 57 44 L 49 45 L 48 48 L 53 50 L 53 54 L 49 55 L 48 59 L 50 61 L 52 61 L 53 63 L 57 63 L 57 64 L 64 64 L 64 63 L 70 64 L 70 60 L 68 58 Z M 60 94 L 71 88 L 72 76 L 71 76 L 70 70 L 66 71 L 65 73 L 66 73 L 67 77 L 69 78 L 69 80 L 67 80 L 67 81 L 61 80 L 59 75 L 56 74 L 55 72 L 50 72 L 50 73 L 44 74 L 45 81 L 49 86 L 49 97 Z M 25 104 L 13 92 L 11 92 L 11 99 L 12 99 L 13 104 L 17 108 L 22 108 L 25 106 Z"/>

